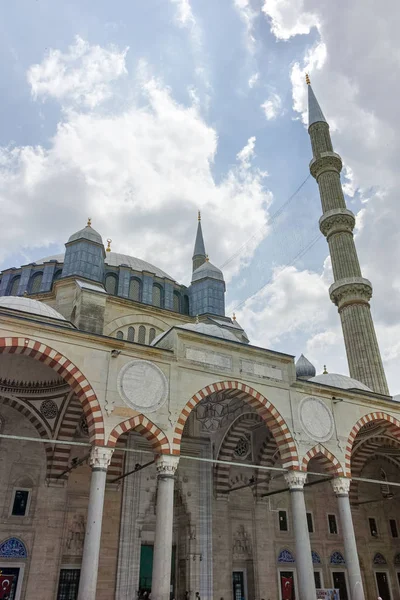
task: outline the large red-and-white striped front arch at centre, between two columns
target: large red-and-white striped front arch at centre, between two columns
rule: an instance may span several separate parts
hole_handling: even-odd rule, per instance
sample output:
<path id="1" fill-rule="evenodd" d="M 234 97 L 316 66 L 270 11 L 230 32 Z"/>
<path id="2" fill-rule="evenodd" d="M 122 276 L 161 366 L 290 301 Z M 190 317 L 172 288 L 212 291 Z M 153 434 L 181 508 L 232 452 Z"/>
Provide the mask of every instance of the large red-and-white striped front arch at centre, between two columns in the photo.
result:
<path id="1" fill-rule="evenodd" d="M 183 428 L 194 407 L 210 394 L 221 391 L 226 391 L 228 397 L 234 396 L 240 398 L 257 411 L 276 440 L 281 454 L 282 466 L 284 468 L 299 470 L 296 444 L 289 427 L 280 413 L 262 394 L 239 381 L 219 381 L 218 383 L 212 383 L 192 396 L 178 418 L 174 431 L 172 454 L 180 454 Z"/>

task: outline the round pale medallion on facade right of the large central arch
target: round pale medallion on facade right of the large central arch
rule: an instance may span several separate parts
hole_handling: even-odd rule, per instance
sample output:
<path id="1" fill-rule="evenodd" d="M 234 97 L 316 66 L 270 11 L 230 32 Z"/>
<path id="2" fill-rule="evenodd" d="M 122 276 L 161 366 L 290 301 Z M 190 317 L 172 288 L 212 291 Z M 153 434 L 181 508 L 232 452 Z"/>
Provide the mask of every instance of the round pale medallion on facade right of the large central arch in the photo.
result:
<path id="1" fill-rule="evenodd" d="M 319 398 L 303 398 L 299 417 L 305 433 L 318 442 L 327 442 L 333 435 L 333 416 L 325 402 Z"/>

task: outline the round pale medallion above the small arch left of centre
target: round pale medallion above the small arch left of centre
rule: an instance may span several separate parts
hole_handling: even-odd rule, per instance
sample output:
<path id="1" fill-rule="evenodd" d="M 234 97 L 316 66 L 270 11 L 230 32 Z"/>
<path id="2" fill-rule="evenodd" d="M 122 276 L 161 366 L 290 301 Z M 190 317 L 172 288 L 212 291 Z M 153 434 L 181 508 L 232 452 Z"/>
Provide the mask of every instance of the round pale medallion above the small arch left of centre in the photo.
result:
<path id="1" fill-rule="evenodd" d="M 147 360 L 132 360 L 118 375 L 118 392 L 131 408 L 140 412 L 154 412 L 168 396 L 168 382 L 164 373 Z"/>

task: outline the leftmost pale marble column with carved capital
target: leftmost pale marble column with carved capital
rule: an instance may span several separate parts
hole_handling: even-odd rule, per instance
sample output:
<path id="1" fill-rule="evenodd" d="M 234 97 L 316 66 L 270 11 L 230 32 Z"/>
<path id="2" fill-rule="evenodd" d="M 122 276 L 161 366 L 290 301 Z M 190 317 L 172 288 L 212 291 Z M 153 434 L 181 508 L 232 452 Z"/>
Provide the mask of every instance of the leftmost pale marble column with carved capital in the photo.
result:
<path id="1" fill-rule="evenodd" d="M 96 599 L 104 492 L 106 487 L 107 469 L 113 452 L 113 448 L 93 446 L 90 453 L 92 478 L 90 482 L 89 506 L 85 542 L 83 545 L 78 600 Z"/>

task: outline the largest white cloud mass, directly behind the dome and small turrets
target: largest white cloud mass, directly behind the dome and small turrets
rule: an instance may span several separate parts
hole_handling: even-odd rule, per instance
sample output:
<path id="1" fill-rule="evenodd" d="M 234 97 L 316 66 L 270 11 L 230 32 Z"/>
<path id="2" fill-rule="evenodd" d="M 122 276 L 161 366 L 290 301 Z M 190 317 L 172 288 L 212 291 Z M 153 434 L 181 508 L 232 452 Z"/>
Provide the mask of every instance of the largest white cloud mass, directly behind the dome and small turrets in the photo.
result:
<path id="1" fill-rule="evenodd" d="M 177 103 L 149 71 L 141 62 L 128 94 L 135 103 L 127 100 L 119 112 L 70 109 L 49 148 L 1 149 L 0 211 L 10 223 L 2 232 L 4 266 L 6 254 L 21 247 L 33 260 L 35 247 L 62 245 L 91 216 L 114 251 L 156 261 L 187 283 L 197 209 L 217 264 L 267 222 L 272 196 L 265 173 L 252 164 L 255 138 L 238 148 L 237 162 L 216 182 L 216 130 L 195 103 Z M 83 76 L 74 79 L 78 88 Z M 247 246 L 230 264 L 227 279 L 253 251 Z"/>

